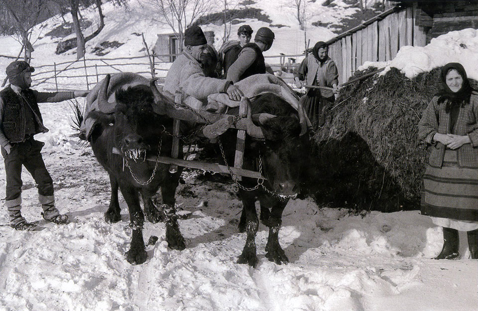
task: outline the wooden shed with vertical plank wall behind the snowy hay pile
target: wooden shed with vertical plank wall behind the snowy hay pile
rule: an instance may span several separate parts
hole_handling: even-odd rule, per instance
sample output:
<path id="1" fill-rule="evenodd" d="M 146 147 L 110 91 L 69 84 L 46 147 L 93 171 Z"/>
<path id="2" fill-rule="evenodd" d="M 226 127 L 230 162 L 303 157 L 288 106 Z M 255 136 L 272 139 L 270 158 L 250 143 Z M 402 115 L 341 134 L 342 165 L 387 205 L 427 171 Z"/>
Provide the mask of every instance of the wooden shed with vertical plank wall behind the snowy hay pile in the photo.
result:
<path id="1" fill-rule="evenodd" d="M 389 61 L 404 45 L 425 46 L 453 30 L 478 28 L 478 1 L 391 0 L 391 7 L 329 40 L 329 56 L 347 81 L 366 61 Z"/>

